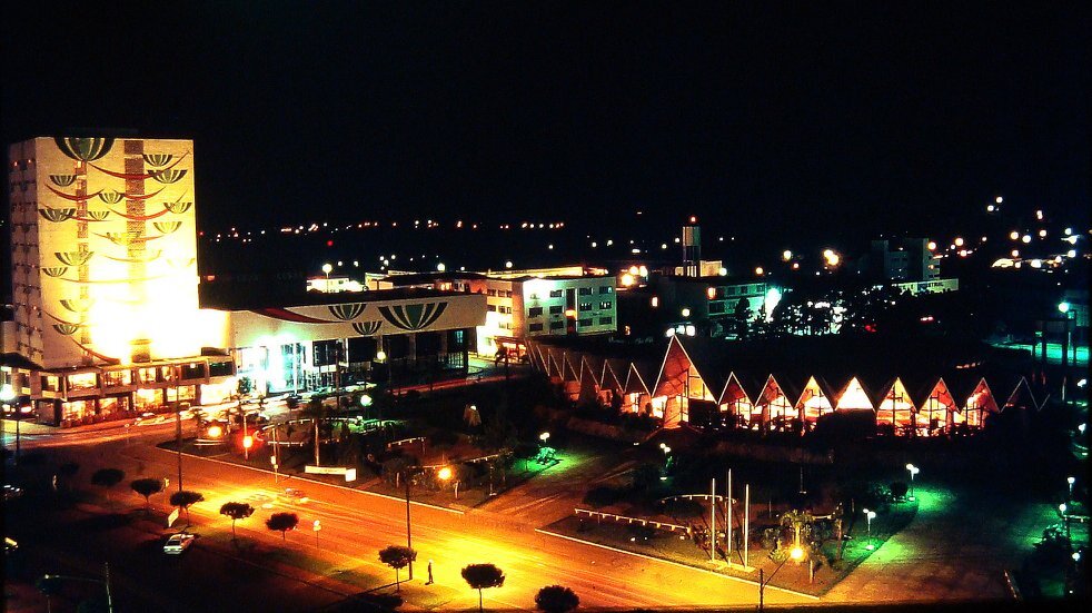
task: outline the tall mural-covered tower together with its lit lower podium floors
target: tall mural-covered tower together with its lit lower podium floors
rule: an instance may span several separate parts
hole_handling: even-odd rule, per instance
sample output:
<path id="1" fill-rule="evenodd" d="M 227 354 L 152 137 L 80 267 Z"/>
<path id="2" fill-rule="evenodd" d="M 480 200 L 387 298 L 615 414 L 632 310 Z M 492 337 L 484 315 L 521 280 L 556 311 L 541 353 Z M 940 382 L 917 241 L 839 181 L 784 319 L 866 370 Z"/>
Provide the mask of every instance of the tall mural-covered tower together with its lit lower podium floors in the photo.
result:
<path id="1" fill-rule="evenodd" d="M 36 366 L 39 419 L 197 402 L 230 378 L 229 358 L 201 354 L 218 316 L 198 307 L 192 141 L 33 138 L 8 154 L 4 350 Z"/>

